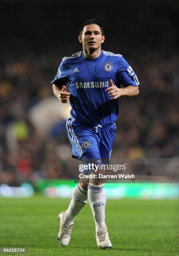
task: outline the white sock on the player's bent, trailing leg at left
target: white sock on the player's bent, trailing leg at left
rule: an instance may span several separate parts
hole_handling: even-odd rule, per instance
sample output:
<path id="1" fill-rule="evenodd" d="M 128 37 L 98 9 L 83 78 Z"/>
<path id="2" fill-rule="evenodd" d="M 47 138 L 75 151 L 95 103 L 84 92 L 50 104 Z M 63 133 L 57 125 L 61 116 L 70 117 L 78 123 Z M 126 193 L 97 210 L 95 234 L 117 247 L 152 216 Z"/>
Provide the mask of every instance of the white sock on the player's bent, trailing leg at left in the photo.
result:
<path id="1" fill-rule="evenodd" d="M 87 204 L 87 190 L 80 186 L 80 183 L 74 188 L 72 200 L 66 210 L 63 220 L 67 225 L 73 224 L 74 218 Z"/>

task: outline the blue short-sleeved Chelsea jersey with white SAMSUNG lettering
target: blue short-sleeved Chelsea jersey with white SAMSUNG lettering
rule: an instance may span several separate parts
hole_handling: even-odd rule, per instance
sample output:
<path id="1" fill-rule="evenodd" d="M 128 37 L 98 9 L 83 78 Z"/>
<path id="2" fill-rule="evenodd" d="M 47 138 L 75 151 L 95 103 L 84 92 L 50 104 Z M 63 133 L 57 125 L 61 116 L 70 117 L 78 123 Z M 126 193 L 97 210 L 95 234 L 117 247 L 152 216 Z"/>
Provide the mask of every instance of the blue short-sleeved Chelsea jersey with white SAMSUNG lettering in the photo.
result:
<path id="1" fill-rule="evenodd" d="M 118 100 L 105 92 L 110 79 L 117 87 L 138 86 L 136 73 L 120 54 L 101 51 L 96 59 L 87 59 L 80 51 L 64 57 L 51 84 L 69 84 L 71 115 L 79 123 L 112 124 L 118 118 Z"/>

